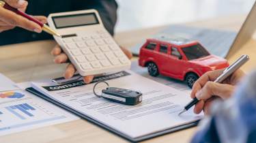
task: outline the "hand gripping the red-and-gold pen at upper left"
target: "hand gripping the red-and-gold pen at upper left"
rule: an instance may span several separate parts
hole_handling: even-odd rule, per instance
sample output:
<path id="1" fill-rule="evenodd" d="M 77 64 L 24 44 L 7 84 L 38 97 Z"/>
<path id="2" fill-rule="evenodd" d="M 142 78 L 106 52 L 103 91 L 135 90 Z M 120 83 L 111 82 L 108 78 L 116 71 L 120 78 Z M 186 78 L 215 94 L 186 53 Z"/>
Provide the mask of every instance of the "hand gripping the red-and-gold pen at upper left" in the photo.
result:
<path id="1" fill-rule="evenodd" d="M 8 3 L 14 8 L 17 8 L 20 11 L 25 12 L 28 2 L 25 0 L 4 0 L 5 3 Z M 37 20 L 40 20 L 43 23 L 46 23 L 45 16 L 33 16 Z M 29 31 L 34 31 L 37 33 L 42 32 L 42 28 L 36 24 L 35 22 L 28 20 L 27 18 L 23 18 L 18 14 L 10 10 L 5 10 L 5 8 L 0 6 L 0 32 L 7 31 L 10 29 L 14 29 L 14 27 L 21 27 L 23 29 L 27 29 Z"/>

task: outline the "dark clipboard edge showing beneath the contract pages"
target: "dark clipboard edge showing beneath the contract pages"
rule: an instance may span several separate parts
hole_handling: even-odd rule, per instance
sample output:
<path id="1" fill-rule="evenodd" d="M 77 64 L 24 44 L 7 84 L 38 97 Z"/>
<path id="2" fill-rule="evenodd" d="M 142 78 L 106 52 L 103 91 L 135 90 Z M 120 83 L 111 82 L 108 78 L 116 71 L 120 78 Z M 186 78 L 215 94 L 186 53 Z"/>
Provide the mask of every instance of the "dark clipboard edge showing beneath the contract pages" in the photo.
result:
<path id="1" fill-rule="evenodd" d="M 94 120 L 94 118 L 90 118 L 89 116 L 86 116 L 85 114 L 82 114 L 81 112 L 73 110 L 72 108 L 69 108 L 68 106 L 63 105 L 63 104 L 59 103 L 58 101 L 55 101 L 55 100 L 47 97 L 46 95 L 36 91 L 32 87 L 27 88 L 26 91 L 28 91 L 29 93 L 32 93 L 34 95 L 37 95 L 38 97 L 41 97 L 42 99 L 45 99 L 46 101 L 49 101 L 52 104 L 55 104 L 56 106 L 59 106 L 59 107 L 65 109 L 65 110 L 68 110 L 69 112 L 72 112 L 73 114 L 76 114 L 77 116 L 80 116 L 81 118 L 89 121 L 90 123 L 94 123 L 94 125 L 98 125 L 98 127 L 102 127 L 102 129 L 106 129 L 107 131 L 111 131 L 111 133 L 114 133 L 115 135 L 120 136 L 120 137 L 122 137 L 122 138 L 124 138 L 124 139 L 126 139 L 130 142 L 141 142 L 143 140 L 148 140 L 148 139 L 151 139 L 151 138 L 155 138 L 157 136 L 162 136 L 162 135 L 165 135 L 167 133 L 172 133 L 172 132 L 175 132 L 175 131 L 180 131 L 182 129 L 188 129 L 190 127 L 195 127 L 199 123 L 199 121 L 195 121 L 193 123 L 188 123 L 188 124 L 180 125 L 180 126 L 177 126 L 177 127 L 172 127 L 172 128 L 169 128 L 169 129 L 165 129 L 165 130 L 162 130 L 162 131 L 157 131 L 157 132 L 154 132 L 154 133 L 150 133 L 150 134 L 147 134 L 145 136 L 140 136 L 138 138 L 132 138 L 130 136 L 127 136 L 124 133 L 121 133 L 121 132 L 117 131 L 116 129 L 113 129 L 113 128 L 107 126 L 107 125 L 104 125 L 104 124 L 100 123 L 99 121 Z"/>

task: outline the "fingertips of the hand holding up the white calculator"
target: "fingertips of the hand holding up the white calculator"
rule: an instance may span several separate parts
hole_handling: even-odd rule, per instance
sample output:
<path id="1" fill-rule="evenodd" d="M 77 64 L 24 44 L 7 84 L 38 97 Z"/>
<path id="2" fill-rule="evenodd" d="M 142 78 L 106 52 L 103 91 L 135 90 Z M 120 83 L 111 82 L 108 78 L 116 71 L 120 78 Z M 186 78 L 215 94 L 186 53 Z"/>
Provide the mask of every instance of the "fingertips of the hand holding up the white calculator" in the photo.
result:
<path id="1" fill-rule="evenodd" d="M 123 48 L 123 47 L 121 47 L 121 49 L 124 51 L 124 53 L 126 54 L 126 56 L 129 59 L 132 59 L 132 53 L 129 50 L 127 50 L 126 48 Z M 53 50 L 51 51 L 51 54 L 53 56 L 55 56 L 54 62 L 57 63 L 57 64 L 68 62 L 68 56 L 64 52 L 62 52 L 59 45 L 56 45 L 55 48 L 53 48 Z M 74 76 L 75 72 L 76 72 L 76 68 L 74 67 L 74 65 L 72 65 L 72 63 L 68 63 L 68 66 L 66 68 L 66 72 L 64 73 L 63 76 L 66 79 L 72 78 L 72 76 Z M 94 75 L 83 77 L 83 80 L 84 80 L 85 83 L 89 83 L 93 79 L 94 79 Z"/>

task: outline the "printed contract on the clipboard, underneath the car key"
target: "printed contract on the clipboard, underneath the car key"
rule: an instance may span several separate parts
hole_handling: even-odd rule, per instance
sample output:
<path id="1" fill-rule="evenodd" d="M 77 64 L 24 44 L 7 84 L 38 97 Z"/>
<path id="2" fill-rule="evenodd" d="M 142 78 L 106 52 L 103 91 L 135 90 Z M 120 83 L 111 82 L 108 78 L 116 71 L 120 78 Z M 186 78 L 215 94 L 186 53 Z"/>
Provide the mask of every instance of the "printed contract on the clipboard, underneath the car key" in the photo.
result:
<path id="1" fill-rule="evenodd" d="M 104 80 L 109 86 L 132 89 L 143 93 L 143 100 L 137 106 L 126 106 L 96 97 L 93 86 Z M 83 80 L 68 84 L 55 84 L 51 80 L 31 83 L 33 89 L 63 106 L 75 110 L 103 125 L 110 131 L 132 141 L 159 136 L 170 129 L 195 123 L 203 117 L 193 110 L 178 116 L 191 100 L 188 93 L 123 71 L 94 78 L 91 84 Z"/>

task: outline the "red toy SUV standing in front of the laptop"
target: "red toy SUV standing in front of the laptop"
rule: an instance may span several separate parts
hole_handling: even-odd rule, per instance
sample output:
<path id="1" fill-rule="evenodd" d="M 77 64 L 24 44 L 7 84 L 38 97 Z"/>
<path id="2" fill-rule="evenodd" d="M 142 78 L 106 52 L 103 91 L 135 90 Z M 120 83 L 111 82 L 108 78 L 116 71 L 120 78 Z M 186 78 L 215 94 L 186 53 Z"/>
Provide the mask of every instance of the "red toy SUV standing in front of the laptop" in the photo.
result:
<path id="1" fill-rule="evenodd" d="M 227 60 L 210 54 L 199 42 L 147 39 L 139 53 L 139 65 L 151 76 L 162 74 L 184 80 L 190 88 L 205 72 L 229 66 Z"/>

